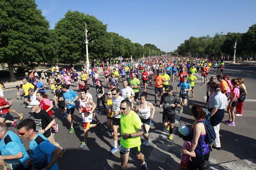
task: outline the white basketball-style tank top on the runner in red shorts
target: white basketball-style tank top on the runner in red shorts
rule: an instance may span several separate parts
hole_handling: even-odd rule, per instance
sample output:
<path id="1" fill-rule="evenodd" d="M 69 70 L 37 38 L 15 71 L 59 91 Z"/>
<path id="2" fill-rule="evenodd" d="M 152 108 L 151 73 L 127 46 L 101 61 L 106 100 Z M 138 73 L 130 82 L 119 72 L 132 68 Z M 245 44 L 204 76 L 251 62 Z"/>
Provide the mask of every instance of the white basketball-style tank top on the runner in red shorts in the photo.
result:
<path id="1" fill-rule="evenodd" d="M 90 100 L 89 97 L 86 97 L 85 101 L 79 99 L 79 102 L 80 102 L 79 107 L 82 110 L 83 122 L 92 122 L 92 115 L 93 114 L 89 113 L 89 111 L 92 110 L 92 105 L 89 103 L 89 100 Z"/>

